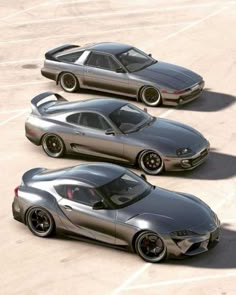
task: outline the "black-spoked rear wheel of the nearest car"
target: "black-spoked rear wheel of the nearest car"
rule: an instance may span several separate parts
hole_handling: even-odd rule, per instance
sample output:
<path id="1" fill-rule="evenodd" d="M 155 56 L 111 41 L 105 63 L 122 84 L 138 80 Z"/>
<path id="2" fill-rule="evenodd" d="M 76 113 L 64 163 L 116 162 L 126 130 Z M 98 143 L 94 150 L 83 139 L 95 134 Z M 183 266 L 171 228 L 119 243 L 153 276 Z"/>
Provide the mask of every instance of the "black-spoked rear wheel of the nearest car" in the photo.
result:
<path id="1" fill-rule="evenodd" d="M 52 235 L 55 223 L 51 214 L 44 208 L 34 207 L 26 216 L 29 230 L 36 236 L 45 238 Z"/>

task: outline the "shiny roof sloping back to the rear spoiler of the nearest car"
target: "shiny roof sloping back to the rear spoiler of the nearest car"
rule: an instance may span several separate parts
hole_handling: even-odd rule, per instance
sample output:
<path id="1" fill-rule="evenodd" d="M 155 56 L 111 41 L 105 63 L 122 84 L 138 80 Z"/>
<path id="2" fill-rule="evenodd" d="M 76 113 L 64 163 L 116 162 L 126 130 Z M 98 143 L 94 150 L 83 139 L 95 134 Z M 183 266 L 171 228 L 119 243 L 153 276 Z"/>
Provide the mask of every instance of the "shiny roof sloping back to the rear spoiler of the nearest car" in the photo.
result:
<path id="1" fill-rule="evenodd" d="M 125 171 L 124 167 L 114 164 L 90 163 L 56 170 L 40 170 L 39 173 L 33 174 L 31 181 L 71 179 L 94 187 L 100 187 L 120 177 Z"/>

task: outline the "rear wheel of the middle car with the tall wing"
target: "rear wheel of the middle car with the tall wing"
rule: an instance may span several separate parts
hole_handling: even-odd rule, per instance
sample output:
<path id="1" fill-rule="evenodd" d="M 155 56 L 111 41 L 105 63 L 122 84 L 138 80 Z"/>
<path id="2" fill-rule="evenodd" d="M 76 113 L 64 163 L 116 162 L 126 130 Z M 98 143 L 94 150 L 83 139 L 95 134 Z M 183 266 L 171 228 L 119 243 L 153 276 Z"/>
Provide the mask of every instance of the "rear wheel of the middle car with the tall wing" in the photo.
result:
<path id="1" fill-rule="evenodd" d="M 45 134 L 42 139 L 44 152 L 52 158 L 61 158 L 65 153 L 65 145 L 56 134 Z"/>

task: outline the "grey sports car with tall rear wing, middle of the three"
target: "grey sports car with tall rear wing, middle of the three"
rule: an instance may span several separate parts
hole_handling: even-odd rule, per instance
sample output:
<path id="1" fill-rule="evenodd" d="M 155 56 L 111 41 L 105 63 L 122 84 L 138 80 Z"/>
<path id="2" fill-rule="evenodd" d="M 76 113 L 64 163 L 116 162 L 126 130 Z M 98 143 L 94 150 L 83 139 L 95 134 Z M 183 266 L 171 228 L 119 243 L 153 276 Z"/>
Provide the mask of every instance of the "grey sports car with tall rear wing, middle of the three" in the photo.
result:
<path id="1" fill-rule="evenodd" d="M 67 102 L 45 92 L 31 101 L 26 137 L 47 155 L 85 154 L 138 164 L 148 174 L 191 170 L 207 157 L 209 142 L 197 130 L 156 118 L 117 99 Z"/>

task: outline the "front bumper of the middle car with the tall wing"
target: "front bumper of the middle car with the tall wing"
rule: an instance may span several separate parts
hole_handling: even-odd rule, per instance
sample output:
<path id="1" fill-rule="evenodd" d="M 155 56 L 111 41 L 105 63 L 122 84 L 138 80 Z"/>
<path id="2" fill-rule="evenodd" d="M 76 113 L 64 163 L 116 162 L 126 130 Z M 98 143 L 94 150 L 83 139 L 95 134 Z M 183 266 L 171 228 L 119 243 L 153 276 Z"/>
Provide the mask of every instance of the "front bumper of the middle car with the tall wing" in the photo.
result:
<path id="1" fill-rule="evenodd" d="M 201 165 L 208 157 L 210 145 L 204 147 L 201 151 L 191 157 L 165 157 L 164 164 L 166 171 L 184 171 L 193 170 Z"/>

